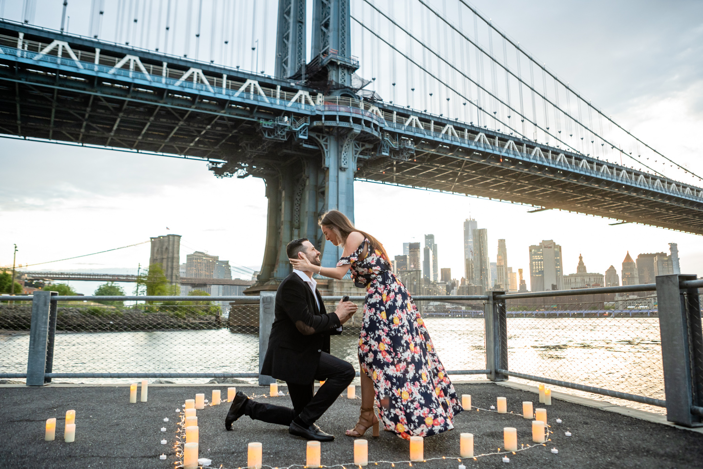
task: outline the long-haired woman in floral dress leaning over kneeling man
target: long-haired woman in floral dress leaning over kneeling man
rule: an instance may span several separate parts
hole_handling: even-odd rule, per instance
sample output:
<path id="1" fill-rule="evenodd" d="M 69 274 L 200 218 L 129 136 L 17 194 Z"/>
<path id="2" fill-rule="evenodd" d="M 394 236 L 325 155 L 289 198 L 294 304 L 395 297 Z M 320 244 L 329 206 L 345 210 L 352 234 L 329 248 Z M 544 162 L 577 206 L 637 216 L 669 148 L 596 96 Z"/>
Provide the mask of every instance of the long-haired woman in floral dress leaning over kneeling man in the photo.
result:
<path id="1" fill-rule="evenodd" d="M 385 430 L 402 438 L 451 430 L 454 416 L 463 409 L 417 307 L 392 272 L 383 245 L 354 228 L 337 210 L 327 212 L 320 226 L 327 240 L 344 246 L 337 267 L 290 259 L 293 267 L 330 278 L 342 278 L 351 268 L 354 283 L 366 288 L 359 336 L 361 416 L 347 435 L 360 437 L 373 426 L 373 436 L 378 436 L 374 398 Z"/>

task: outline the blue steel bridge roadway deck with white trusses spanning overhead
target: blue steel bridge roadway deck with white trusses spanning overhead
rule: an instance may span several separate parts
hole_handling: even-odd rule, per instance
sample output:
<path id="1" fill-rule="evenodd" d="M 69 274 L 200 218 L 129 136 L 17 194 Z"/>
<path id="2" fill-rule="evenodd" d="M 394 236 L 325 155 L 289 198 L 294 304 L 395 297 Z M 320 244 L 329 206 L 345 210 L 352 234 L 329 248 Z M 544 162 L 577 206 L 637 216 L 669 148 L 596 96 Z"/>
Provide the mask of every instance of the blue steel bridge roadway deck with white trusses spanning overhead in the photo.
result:
<path id="1" fill-rule="evenodd" d="M 59 59 L 58 46 L 41 53 L 59 39 L 76 60 Z M 703 234 L 702 188 L 390 103 L 7 21 L 0 65 L 6 136 L 179 155 L 208 160 L 219 176 L 266 177 L 320 158 L 316 135 L 359 132 L 345 163 L 356 179 Z"/>

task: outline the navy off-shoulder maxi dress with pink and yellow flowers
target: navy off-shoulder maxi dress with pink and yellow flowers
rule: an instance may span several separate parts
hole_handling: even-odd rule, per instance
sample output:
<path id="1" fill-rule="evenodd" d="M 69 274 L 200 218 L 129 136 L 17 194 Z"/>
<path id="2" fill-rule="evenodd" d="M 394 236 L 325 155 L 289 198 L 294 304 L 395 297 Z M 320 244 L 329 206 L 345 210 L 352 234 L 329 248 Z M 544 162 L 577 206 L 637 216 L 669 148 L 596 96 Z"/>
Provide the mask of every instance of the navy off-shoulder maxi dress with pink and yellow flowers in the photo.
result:
<path id="1" fill-rule="evenodd" d="M 400 437 L 427 437 L 454 428 L 463 410 L 430 334 L 405 285 L 380 250 L 359 248 L 337 266 L 351 264 L 356 286 L 366 288 L 359 361 L 373 379 L 378 416 Z"/>

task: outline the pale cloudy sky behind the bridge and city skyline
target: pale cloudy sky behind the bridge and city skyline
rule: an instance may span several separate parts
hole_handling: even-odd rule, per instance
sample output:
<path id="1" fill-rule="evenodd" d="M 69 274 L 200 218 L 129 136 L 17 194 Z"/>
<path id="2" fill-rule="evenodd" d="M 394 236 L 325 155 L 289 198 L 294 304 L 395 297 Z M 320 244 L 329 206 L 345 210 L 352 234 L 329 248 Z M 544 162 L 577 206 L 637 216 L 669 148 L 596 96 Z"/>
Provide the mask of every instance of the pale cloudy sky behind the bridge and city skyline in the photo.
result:
<path id="1" fill-rule="evenodd" d="M 19 19 L 13 17 L 19 15 L 13 4 L 20 3 L 6 4 L 5 15 Z M 37 23 L 58 27 L 53 23 L 57 14 L 60 18 L 60 3 L 39 0 Z M 78 20 L 71 21 L 79 24 L 89 1 L 69 4 L 86 6 L 72 13 Z M 624 127 L 703 172 L 697 141 L 703 128 L 703 2 L 472 4 Z M 245 266 L 261 262 L 266 198 L 259 179 L 216 179 L 205 163 L 176 158 L 12 139 L 0 143 L 0 266 L 12 263 L 13 243 L 19 248 L 18 263 L 34 264 L 166 233 L 183 236 L 183 262 L 193 250 Z M 440 267 L 451 267 L 455 277 L 463 275 L 462 224 L 467 217 L 488 229 L 494 251 L 498 238 L 505 238 L 508 264 L 525 269 L 528 286 L 528 246 L 546 239 L 562 245 L 567 274 L 576 271 L 579 253 L 588 271 L 603 273 L 611 264 L 619 271 L 628 250 L 633 257 L 666 252 L 673 242 L 678 243 L 681 271 L 703 276 L 700 236 L 632 224 L 609 226 L 614 221 L 562 212 L 529 214 L 520 205 L 380 184 L 356 183 L 355 191 L 357 226 L 380 238 L 391 255 L 401 253 L 402 243 L 433 233 Z M 396 212 L 391 222 L 389 210 Z M 148 257 L 147 243 L 32 269 L 136 269 Z M 90 283 L 74 286 L 81 293 L 95 288 Z"/>

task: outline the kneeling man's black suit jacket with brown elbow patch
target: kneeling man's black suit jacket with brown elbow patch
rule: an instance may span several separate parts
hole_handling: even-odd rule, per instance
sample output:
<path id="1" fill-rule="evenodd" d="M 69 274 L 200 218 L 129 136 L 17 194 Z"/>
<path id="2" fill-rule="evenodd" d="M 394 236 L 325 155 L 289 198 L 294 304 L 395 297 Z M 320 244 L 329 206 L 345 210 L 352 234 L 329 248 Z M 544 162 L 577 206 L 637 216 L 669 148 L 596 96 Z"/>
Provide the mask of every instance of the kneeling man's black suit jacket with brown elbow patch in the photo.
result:
<path id="1" fill-rule="evenodd" d="M 342 326 L 337 314 L 325 310 L 317 290 L 315 295 L 295 273 L 278 285 L 276 316 L 262 366 L 263 375 L 295 384 L 315 380 L 320 354 L 330 353 L 330 335 L 340 334 L 337 328 Z"/>

